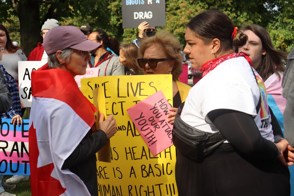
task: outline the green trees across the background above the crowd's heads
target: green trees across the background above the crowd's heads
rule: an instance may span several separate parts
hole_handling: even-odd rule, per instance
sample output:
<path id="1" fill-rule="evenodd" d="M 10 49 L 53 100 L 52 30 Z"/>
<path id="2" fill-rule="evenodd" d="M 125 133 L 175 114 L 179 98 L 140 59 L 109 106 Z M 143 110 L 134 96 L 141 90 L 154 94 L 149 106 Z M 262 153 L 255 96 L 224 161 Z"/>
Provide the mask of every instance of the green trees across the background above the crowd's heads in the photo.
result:
<path id="1" fill-rule="evenodd" d="M 218 9 L 227 14 L 239 28 L 244 24 L 258 24 L 268 30 L 274 46 L 290 51 L 294 46 L 293 1 L 273 0 L 166 0 L 166 26 L 185 45 L 188 22 L 206 9 Z M 122 28 L 121 0 L 0 0 L 0 21 L 8 26 L 14 41 L 20 41 L 28 55 L 42 41 L 41 26 L 49 18 L 61 25 L 89 24 L 104 29 L 119 42 L 131 42 L 138 35 L 137 28 Z M 19 21 L 16 20 L 18 17 Z M 18 27 L 19 22 L 19 27 Z M 15 34 L 13 34 L 15 33 Z M 21 35 L 18 39 L 18 35 Z"/>

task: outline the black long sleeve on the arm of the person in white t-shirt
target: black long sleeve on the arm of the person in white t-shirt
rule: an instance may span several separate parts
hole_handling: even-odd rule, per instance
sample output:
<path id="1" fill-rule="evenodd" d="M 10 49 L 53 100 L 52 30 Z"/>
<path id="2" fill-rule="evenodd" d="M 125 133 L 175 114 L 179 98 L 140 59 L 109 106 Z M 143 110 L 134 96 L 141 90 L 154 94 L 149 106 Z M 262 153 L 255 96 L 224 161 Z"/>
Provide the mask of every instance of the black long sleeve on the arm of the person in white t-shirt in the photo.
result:
<path id="1" fill-rule="evenodd" d="M 275 143 L 261 136 L 251 115 L 236 110 L 218 109 L 208 113 L 208 118 L 242 153 L 260 160 L 274 160 L 280 155 Z"/>

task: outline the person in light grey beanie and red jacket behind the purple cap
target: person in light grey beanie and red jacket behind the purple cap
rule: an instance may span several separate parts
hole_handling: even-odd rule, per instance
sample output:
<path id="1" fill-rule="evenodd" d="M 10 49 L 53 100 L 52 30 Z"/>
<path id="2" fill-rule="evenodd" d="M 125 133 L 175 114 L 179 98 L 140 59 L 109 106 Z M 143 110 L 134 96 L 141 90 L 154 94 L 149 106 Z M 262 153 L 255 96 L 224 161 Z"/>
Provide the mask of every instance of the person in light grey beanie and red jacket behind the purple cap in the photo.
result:
<path id="1" fill-rule="evenodd" d="M 43 24 L 43 26 L 41 28 L 40 34 L 43 37 L 43 39 L 45 38 L 46 33 L 50 29 L 52 29 L 56 26 L 59 26 L 59 21 L 57 21 L 55 19 L 47 19 L 47 21 L 45 21 L 45 23 Z M 33 51 L 31 51 L 30 55 L 28 56 L 27 61 L 44 61 L 44 63 L 47 63 L 47 59 L 48 59 L 48 55 L 44 51 L 42 43 L 39 42 L 38 46 L 36 48 L 34 48 Z"/>

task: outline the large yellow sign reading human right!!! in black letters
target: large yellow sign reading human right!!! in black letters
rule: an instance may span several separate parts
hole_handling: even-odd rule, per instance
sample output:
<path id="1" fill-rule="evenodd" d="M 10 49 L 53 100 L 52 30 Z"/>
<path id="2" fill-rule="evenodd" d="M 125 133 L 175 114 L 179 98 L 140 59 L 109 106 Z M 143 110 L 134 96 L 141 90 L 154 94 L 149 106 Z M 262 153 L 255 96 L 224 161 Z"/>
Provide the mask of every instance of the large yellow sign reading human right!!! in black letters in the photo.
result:
<path id="1" fill-rule="evenodd" d="M 99 112 L 112 114 L 118 130 L 110 139 L 111 163 L 97 161 L 98 195 L 178 195 L 175 147 L 153 156 L 126 111 L 160 90 L 172 105 L 172 76 L 81 79 L 81 91 L 92 103 L 95 88 Z"/>

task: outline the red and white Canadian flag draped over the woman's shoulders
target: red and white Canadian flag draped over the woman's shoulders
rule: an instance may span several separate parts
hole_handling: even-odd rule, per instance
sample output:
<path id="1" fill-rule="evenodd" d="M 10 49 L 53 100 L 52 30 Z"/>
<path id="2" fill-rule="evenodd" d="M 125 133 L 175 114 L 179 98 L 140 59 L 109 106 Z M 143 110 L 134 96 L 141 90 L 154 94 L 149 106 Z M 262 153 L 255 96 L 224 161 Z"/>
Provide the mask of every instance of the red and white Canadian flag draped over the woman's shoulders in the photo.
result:
<path id="1" fill-rule="evenodd" d="M 67 71 L 43 67 L 31 74 L 29 152 L 32 195 L 90 195 L 64 160 L 91 129 L 97 110 Z"/>

